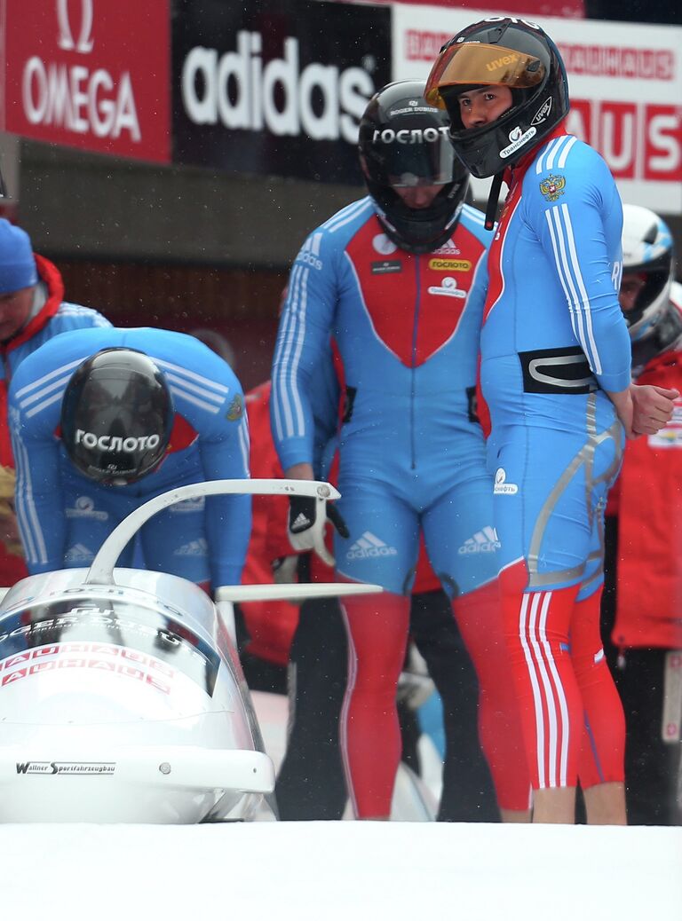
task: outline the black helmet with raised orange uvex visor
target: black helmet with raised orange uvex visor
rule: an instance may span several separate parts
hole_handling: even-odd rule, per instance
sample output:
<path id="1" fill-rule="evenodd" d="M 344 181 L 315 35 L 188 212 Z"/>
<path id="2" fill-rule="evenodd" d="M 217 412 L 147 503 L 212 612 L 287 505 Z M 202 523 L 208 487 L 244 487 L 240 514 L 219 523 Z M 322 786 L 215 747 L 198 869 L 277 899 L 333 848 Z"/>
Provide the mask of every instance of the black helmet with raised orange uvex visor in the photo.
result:
<path id="1" fill-rule="evenodd" d="M 495 122 L 464 129 L 458 97 L 506 86 L 512 108 Z M 546 137 L 570 108 L 566 70 L 554 42 L 535 23 L 489 17 L 458 32 L 431 68 L 425 98 L 450 117 L 457 156 L 474 176 L 494 176 Z"/>

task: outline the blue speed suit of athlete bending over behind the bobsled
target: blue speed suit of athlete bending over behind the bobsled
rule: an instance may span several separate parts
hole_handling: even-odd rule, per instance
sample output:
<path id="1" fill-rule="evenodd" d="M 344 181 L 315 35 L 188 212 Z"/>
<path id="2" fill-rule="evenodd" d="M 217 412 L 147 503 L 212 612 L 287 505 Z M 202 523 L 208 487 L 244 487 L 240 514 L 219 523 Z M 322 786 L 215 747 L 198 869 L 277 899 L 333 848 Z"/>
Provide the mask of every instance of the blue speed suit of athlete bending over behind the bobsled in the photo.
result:
<path id="1" fill-rule="evenodd" d="M 100 485 L 76 471 L 59 438 L 66 384 L 102 348 L 146 353 L 170 385 L 174 422 L 166 456 L 137 483 Z M 65 333 L 26 358 L 9 391 L 17 461 L 17 514 L 29 572 L 89 565 L 113 528 L 147 499 L 177 486 L 249 475 L 241 386 L 229 365 L 194 336 L 157 329 Z M 239 584 L 251 530 L 248 495 L 190 499 L 143 527 L 147 568 L 213 589 Z M 131 565 L 132 542 L 121 565 Z"/>

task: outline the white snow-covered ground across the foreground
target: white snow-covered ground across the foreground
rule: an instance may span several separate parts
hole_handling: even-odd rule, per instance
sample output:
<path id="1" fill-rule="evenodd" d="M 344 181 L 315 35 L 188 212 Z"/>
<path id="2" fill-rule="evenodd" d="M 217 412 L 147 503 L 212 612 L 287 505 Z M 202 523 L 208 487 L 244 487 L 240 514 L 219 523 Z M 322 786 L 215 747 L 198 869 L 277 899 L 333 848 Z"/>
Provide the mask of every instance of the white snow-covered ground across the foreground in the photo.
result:
<path id="1" fill-rule="evenodd" d="M 286 702 L 256 701 L 276 763 Z M 0 825 L 6 917 L 663 921 L 682 829 L 254 822 Z"/>

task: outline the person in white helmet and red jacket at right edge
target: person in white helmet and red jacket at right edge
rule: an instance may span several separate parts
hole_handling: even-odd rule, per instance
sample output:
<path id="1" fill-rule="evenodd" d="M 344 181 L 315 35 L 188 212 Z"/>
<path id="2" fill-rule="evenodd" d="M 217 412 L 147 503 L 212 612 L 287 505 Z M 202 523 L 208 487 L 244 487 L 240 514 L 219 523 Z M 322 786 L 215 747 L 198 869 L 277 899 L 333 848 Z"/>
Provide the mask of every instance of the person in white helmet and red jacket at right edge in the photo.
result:
<path id="1" fill-rule="evenodd" d="M 619 300 L 633 377 L 682 391 L 682 285 L 673 274 L 668 227 L 648 208 L 624 205 Z M 678 398 L 664 428 L 628 442 L 606 508 L 603 632 L 626 715 L 630 824 L 682 823 L 681 480 Z"/>

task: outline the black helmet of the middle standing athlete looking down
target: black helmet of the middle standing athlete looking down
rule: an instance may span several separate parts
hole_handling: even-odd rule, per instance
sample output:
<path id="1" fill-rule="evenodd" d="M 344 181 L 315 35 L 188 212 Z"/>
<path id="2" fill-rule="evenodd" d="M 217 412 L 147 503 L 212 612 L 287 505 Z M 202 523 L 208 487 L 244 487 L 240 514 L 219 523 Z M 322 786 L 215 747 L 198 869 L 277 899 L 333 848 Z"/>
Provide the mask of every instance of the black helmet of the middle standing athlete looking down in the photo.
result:
<path id="1" fill-rule="evenodd" d="M 387 236 L 408 252 L 438 249 L 453 235 L 469 177 L 453 156 L 448 120 L 424 101 L 424 83 L 389 83 L 359 124 L 360 166 Z M 410 208 L 395 189 L 442 186 L 429 207 Z"/>

